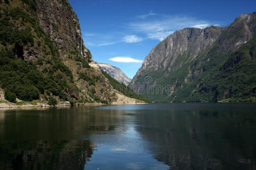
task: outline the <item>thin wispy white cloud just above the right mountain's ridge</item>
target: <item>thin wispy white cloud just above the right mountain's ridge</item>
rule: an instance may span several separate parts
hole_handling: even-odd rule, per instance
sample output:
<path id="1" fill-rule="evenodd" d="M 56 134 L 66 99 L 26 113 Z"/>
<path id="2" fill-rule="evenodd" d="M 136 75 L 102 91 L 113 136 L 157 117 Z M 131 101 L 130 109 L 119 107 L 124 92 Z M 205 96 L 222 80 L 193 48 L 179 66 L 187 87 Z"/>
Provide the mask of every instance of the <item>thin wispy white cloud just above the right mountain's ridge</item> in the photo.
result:
<path id="1" fill-rule="evenodd" d="M 166 39 L 168 35 L 182 28 L 205 28 L 212 25 L 205 20 L 189 16 L 158 14 L 154 18 L 147 18 L 148 15 L 142 15 L 144 17 L 139 19 L 137 17 L 137 20 L 129 23 L 128 27 L 135 32 L 144 33 L 148 39 L 159 41 Z"/>

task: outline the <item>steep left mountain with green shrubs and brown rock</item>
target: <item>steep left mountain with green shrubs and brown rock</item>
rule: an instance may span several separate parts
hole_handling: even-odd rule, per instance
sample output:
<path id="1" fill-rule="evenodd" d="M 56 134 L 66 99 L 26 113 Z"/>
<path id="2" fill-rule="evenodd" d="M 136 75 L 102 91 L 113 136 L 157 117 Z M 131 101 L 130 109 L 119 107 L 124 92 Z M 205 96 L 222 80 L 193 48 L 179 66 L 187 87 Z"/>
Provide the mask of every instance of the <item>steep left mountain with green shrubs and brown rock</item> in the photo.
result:
<path id="1" fill-rule="evenodd" d="M 5 0 L 0 9 L 0 87 L 5 99 L 137 102 L 115 90 L 93 61 L 67 0 Z"/>

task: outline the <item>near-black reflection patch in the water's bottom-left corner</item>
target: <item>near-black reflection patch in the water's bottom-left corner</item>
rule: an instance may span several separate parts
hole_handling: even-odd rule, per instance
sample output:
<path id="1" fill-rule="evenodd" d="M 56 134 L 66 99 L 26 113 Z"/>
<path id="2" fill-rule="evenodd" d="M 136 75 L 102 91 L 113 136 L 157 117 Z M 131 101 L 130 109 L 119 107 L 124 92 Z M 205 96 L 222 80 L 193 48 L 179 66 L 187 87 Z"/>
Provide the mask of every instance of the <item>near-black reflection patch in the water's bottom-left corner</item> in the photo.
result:
<path id="1" fill-rule="evenodd" d="M 0 169 L 84 169 L 92 155 L 89 141 L 0 143 Z"/>

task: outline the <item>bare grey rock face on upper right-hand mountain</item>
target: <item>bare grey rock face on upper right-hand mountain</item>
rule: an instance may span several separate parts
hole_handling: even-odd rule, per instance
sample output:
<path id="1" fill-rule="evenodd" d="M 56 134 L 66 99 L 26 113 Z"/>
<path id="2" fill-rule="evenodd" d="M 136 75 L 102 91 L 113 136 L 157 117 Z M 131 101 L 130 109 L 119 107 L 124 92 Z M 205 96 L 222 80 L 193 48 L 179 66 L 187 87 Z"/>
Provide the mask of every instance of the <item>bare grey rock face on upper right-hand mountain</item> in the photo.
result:
<path id="1" fill-rule="evenodd" d="M 170 73 L 179 69 L 185 63 L 193 61 L 203 50 L 208 49 L 218 39 L 224 29 L 212 26 L 205 29 L 184 28 L 176 31 L 151 50 L 129 86 L 133 86 L 137 77 L 148 71 L 163 69 Z M 180 62 L 179 65 L 174 65 L 182 56 L 189 57 L 187 60 Z"/>

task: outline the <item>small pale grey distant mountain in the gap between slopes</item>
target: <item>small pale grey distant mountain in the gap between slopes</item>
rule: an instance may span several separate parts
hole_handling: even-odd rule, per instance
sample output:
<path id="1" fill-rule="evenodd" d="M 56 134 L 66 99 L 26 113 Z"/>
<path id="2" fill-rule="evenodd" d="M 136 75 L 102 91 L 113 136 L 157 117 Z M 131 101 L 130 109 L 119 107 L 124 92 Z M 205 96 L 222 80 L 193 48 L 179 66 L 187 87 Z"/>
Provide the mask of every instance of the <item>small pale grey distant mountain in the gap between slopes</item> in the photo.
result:
<path id="1" fill-rule="evenodd" d="M 112 66 L 108 63 L 98 63 L 98 65 L 101 67 L 101 70 L 108 73 L 112 78 L 117 80 L 121 84 L 125 84 L 126 86 L 131 82 L 131 79 L 128 78 L 125 73 L 118 67 Z"/>

